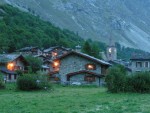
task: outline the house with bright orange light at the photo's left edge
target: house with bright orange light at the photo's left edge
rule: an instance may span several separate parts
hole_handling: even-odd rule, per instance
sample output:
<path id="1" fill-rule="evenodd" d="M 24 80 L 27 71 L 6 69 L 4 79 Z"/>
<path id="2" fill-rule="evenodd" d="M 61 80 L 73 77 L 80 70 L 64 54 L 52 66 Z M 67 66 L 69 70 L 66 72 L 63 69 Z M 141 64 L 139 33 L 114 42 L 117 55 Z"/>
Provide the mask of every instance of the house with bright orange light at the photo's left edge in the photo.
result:
<path id="1" fill-rule="evenodd" d="M 14 82 L 17 79 L 17 70 L 27 71 L 28 62 L 22 55 L 3 54 L 0 55 L 0 72 L 4 75 L 4 80 Z"/>

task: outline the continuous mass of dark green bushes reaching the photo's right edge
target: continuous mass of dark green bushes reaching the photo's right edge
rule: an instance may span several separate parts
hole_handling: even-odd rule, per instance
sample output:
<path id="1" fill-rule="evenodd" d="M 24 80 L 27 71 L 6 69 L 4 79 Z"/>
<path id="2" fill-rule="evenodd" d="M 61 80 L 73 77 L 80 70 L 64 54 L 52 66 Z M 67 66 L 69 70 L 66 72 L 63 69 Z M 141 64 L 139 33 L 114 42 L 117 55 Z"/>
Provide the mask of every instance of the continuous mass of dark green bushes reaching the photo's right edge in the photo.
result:
<path id="1" fill-rule="evenodd" d="M 129 76 L 123 67 L 112 67 L 106 76 L 108 91 L 117 92 L 150 92 L 150 72 L 134 73 Z"/>

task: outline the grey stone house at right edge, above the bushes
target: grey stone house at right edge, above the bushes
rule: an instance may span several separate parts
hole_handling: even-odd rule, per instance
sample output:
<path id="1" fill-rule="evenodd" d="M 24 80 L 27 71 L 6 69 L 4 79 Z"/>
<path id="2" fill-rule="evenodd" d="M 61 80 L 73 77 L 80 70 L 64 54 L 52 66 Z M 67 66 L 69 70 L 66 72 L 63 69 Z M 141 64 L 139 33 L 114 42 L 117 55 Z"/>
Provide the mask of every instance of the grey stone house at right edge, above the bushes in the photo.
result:
<path id="1" fill-rule="evenodd" d="M 150 71 L 150 55 L 134 55 L 131 59 L 132 72 Z"/>

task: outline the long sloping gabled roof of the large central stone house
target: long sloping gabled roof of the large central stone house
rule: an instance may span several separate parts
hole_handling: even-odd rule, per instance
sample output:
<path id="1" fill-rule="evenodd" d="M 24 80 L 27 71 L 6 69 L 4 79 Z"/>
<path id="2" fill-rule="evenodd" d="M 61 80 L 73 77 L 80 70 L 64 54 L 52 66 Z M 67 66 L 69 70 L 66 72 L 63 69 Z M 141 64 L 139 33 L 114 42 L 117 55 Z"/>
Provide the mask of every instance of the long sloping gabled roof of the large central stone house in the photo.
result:
<path id="1" fill-rule="evenodd" d="M 70 51 L 70 52 L 68 52 L 68 53 L 58 57 L 57 59 L 63 59 L 66 56 L 69 56 L 69 55 L 72 55 L 72 54 L 84 57 L 86 59 L 92 60 L 92 61 L 97 62 L 99 64 L 103 64 L 103 65 L 107 65 L 107 66 L 111 65 L 110 63 L 108 63 L 108 62 L 106 62 L 104 60 L 100 60 L 100 59 L 97 59 L 97 58 L 95 58 L 93 56 L 90 56 L 90 55 L 87 55 L 87 54 L 84 54 L 84 53 L 81 53 L 81 52 L 76 52 L 76 51 Z"/>

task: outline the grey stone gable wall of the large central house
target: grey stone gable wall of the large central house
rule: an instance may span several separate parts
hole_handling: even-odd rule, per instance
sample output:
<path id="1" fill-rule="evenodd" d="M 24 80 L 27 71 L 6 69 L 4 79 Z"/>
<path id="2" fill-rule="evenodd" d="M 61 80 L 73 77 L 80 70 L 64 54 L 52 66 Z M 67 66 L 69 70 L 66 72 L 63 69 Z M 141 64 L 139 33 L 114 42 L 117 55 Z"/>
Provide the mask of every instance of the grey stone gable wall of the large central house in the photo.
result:
<path id="1" fill-rule="evenodd" d="M 70 56 L 67 56 L 66 58 L 62 59 L 61 64 L 60 64 L 60 71 L 59 71 L 61 82 L 62 83 L 67 82 L 66 75 L 69 73 L 86 70 L 85 65 L 89 64 L 89 63 L 96 65 L 96 70 L 91 70 L 91 72 L 101 74 L 101 65 L 100 64 L 97 64 L 97 63 L 90 61 L 88 59 L 85 59 L 83 57 L 80 57 L 77 55 L 70 55 Z M 82 79 L 81 76 L 83 76 L 83 74 L 79 75 L 79 76 L 80 76 L 79 78 L 78 78 L 78 76 L 77 77 L 74 76 L 75 77 L 74 80 Z"/>

